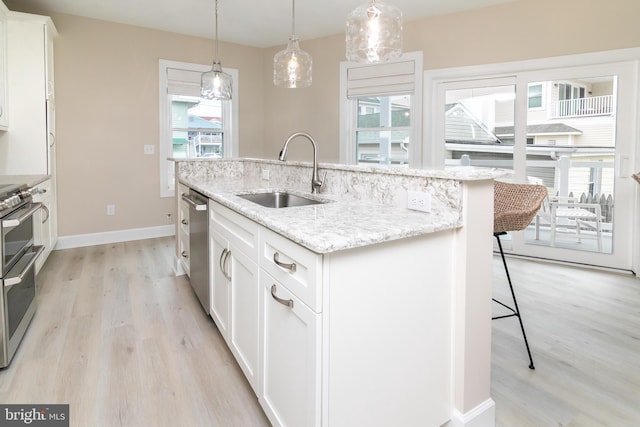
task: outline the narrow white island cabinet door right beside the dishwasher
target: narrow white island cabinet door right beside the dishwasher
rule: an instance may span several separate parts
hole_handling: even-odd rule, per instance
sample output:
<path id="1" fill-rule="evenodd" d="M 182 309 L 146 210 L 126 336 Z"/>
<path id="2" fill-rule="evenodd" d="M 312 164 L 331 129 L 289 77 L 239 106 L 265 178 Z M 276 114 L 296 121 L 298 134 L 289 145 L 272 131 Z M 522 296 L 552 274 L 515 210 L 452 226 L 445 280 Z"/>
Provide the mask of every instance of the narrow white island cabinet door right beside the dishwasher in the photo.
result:
<path id="1" fill-rule="evenodd" d="M 211 317 L 224 340 L 229 343 L 231 284 L 228 270 L 229 242 L 210 226 L 209 254 L 211 266 Z"/>

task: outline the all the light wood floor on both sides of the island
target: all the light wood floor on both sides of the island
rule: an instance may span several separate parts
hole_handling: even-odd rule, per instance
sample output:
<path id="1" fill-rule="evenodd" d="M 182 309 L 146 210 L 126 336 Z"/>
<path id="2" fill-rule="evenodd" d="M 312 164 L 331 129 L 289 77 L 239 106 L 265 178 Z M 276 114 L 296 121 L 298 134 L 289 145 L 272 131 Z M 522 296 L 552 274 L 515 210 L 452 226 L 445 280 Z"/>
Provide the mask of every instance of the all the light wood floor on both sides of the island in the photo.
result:
<path id="1" fill-rule="evenodd" d="M 0 402 L 69 403 L 72 426 L 268 426 L 173 238 L 54 251 Z M 640 425 L 640 280 L 508 259 L 533 349 L 493 322 L 500 427 Z M 498 258 L 496 295 L 508 289 Z M 354 426 L 359 427 L 359 426 Z"/>

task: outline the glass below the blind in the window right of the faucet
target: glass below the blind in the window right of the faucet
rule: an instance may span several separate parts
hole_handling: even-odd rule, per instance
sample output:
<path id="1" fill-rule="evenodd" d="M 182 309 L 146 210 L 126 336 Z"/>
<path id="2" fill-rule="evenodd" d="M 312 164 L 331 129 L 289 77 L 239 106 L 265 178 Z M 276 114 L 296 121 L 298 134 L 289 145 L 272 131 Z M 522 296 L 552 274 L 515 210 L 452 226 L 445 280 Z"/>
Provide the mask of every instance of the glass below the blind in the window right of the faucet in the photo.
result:
<path id="1" fill-rule="evenodd" d="M 358 98 L 358 164 L 408 165 L 411 98 L 411 95 Z"/>

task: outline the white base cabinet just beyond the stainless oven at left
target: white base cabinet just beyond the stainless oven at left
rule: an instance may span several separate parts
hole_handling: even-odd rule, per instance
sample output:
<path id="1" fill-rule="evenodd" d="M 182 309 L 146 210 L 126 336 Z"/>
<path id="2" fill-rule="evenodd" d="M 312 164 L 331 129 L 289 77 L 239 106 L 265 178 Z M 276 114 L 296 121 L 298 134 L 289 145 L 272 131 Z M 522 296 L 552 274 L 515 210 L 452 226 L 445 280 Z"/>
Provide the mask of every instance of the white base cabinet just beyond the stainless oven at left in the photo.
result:
<path id="1" fill-rule="evenodd" d="M 33 217 L 33 239 L 36 245 L 44 246 L 44 252 L 36 260 L 36 274 L 42 268 L 51 251 L 56 245 L 58 238 L 57 221 L 55 218 L 56 209 L 53 194 L 52 180 L 48 179 L 38 184 L 34 190 L 33 201 L 42 203 L 40 209 Z"/>

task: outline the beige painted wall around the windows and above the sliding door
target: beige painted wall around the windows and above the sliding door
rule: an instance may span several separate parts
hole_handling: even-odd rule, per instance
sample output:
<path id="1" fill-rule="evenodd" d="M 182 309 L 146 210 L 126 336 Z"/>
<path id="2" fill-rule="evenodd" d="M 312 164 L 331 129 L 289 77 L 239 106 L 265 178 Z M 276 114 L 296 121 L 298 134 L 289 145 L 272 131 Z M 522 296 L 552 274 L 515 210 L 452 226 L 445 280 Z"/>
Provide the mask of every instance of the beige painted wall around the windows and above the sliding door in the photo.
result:
<path id="1" fill-rule="evenodd" d="M 20 2 L 10 9 L 26 12 Z M 22 9 L 21 9 L 22 7 Z M 640 46 L 637 0 L 520 0 L 405 24 L 405 50 L 424 52 L 425 69 L 542 58 Z M 174 201 L 159 197 L 158 59 L 208 64 L 210 40 L 53 15 L 62 236 L 166 224 Z M 300 29 L 304 35 L 304 29 Z M 283 40 L 285 43 L 286 40 Z M 306 130 L 321 161 L 338 159 L 339 63 L 344 37 L 303 40 L 313 56 L 311 88 L 272 85 L 281 49 L 221 43 L 239 69 L 240 155 L 275 158 L 287 135 Z M 291 159 L 310 159 L 304 140 Z M 105 215 L 107 204 L 116 215 Z"/>

